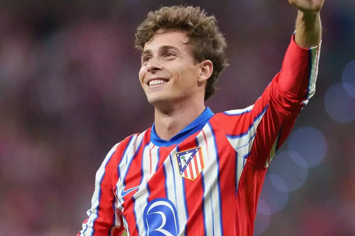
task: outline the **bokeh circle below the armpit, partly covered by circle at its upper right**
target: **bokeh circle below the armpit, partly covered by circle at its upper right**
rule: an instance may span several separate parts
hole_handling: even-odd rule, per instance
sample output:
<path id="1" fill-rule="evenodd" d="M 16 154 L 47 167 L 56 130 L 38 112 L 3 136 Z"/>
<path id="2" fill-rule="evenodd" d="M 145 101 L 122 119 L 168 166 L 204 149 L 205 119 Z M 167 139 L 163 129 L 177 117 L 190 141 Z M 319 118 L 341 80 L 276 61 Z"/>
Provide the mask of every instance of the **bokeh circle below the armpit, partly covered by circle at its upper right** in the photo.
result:
<path id="1" fill-rule="evenodd" d="M 271 167 L 269 167 L 269 169 L 270 168 Z M 265 202 L 268 206 L 268 210 L 265 210 L 264 214 L 266 214 L 268 211 L 270 211 L 271 214 L 274 214 L 283 209 L 288 201 L 288 197 L 289 192 L 281 191 L 278 188 L 275 188 L 271 181 L 270 175 L 266 174 L 263 188 L 260 193 L 260 199 L 263 199 L 263 202 Z M 265 208 L 261 207 L 259 211 L 262 211 L 262 209 Z"/>

